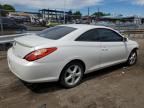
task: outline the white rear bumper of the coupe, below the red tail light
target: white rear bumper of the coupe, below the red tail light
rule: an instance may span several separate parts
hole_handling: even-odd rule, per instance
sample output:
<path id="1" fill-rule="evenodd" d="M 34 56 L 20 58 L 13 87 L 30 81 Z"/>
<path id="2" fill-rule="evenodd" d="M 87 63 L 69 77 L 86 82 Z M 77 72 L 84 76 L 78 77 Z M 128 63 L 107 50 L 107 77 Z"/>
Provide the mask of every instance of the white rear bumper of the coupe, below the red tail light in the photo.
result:
<path id="1" fill-rule="evenodd" d="M 63 62 L 37 63 L 28 62 L 13 54 L 12 49 L 7 54 L 9 69 L 18 78 L 30 83 L 57 81 L 63 68 Z"/>

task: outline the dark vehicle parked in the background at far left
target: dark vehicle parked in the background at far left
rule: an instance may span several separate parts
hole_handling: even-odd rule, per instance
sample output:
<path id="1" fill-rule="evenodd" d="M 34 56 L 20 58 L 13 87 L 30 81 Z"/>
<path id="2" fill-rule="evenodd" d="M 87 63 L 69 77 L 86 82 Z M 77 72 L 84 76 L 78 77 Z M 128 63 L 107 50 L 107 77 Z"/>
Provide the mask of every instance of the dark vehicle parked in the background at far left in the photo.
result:
<path id="1" fill-rule="evenodd" d="M 11 18 L 2 17 L 0 24 L 2 24 L 4 34 L 23 33 L 27 30 L 25 26 L 17 24 L 15 20 Z"/>

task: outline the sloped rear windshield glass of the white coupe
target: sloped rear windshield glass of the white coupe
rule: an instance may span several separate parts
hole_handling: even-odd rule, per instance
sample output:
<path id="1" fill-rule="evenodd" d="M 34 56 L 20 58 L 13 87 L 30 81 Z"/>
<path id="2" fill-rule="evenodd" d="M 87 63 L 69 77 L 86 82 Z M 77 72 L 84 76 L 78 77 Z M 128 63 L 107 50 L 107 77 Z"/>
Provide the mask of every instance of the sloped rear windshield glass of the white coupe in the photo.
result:
<path id="1" fill-rule="evenodd" d="M 48 39 L 58 40 L 64 37 L 65 35 L 73 32 L 74 30 L 76 30 L 76 28 L 66 26 L 56 26 L 45 29 L 39 32 L 37 35 Z"/>

